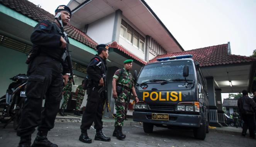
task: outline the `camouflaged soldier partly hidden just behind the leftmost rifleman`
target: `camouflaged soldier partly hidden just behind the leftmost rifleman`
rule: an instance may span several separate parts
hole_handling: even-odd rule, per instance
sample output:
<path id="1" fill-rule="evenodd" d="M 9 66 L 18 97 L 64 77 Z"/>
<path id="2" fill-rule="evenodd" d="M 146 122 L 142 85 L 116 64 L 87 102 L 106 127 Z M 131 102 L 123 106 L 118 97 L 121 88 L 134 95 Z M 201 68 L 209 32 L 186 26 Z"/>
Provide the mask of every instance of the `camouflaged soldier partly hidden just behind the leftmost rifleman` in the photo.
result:
<path id="1" fill-rule="evenodd" d="M 59 112 L 59 114 L 61 116 L 66 116 L 66 114 L 64 114 L 64 109 L 65 109 L 66 105 L 68 104 L 68 99 L 70 98 L 70 95 L 71 95 L 72 82 L 73 82 L 72 77 L 69 77 L 68 84 L 63 88 L 64 100 L 63 100 L 63 103 L 61 105 L 61 110 Z"/>

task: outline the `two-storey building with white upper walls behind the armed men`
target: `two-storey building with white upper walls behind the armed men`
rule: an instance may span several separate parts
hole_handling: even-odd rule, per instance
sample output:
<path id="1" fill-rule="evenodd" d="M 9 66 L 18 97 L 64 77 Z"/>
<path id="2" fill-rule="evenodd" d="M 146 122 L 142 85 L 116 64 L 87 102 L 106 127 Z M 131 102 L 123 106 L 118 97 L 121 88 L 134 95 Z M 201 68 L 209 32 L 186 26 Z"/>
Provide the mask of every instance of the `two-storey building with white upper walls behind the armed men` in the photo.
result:
<path id="1" fill-rule="evenodd" d="M 72 18 L 64 30 L 70 39 L 73 59 L 76 85 L 72 92 L 86 76 L 86 67 L 97 53 L 95 49 L 98 43 L 111 46 L 107 62 L 109 97 L 112 97 L 112 76 L 115 70 L 123 68 L 124 60 L 134 59 L 133 71 L 139 71 L 156 55 L 183 51 L 144 0 L 71 0 L 68 5 Z M 9 78 L 26 73 L 27 65 L 24 62 L 32 48 L 30 35 L 33 27 L 41 20 L 53 22 L 54 16 L 27 0 L 2 0 L 0 8 L 3 22 L 0 25 L 0 47 L 3 52 L 0 57 L 0 94 L 4 95 L 11 82 Z M 109 101 L 113 110 L 114 99 Z M 71 102 L 74 103 L 74 98 Z M 86 100 L 82 105 L 85 104 Z"/>

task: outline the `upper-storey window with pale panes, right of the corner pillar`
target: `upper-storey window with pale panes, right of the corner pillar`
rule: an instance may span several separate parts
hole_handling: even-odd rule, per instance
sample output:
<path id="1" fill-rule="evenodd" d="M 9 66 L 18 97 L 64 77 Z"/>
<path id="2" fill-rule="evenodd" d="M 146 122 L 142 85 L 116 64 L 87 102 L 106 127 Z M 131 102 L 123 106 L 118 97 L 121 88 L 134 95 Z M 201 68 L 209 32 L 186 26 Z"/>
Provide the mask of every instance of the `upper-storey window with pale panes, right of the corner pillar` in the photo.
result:
<path id="1" fill-rule="evenodd" d="M 124 20 L 121 22 L 120 36 L 124 37 L 134 47 L 144 52 L 145 38 Z"/>

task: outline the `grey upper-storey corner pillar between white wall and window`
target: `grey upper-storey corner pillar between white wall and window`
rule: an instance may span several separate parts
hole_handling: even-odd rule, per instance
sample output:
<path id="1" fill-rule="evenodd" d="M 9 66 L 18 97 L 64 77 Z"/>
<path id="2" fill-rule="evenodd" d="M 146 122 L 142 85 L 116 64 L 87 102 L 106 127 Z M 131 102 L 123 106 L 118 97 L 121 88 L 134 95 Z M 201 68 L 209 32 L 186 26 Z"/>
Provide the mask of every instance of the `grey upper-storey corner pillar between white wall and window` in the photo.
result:
<path id="1" fill-rule="evenodd" d="M 112 35 L 112 41 L 119 42 L 120 27 L 122 21 L 122 11 L 120 9 L 115 11 L 114 29 Z"/>

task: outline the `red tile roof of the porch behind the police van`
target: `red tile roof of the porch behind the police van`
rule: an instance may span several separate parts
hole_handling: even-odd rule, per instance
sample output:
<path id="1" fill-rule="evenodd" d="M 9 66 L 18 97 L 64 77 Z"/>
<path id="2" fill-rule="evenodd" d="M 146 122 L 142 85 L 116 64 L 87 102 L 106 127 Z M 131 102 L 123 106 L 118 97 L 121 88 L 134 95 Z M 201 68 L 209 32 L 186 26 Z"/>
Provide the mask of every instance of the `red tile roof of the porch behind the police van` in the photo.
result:
<path id="1" fill-rule="evenodd" d="M 165 55 L 158 55 L 150 62 L 155 62 L 157 58 L 171 57 L 176 55 L 193 55 L 193 60 L 200 63 L 201 67 L 213 66 L 213 65 L 224 65 L 231 63 L 242 63 L 256 61 L 256 58 L 240 56 L 240 55 L 229 55 L 228 44 L 215 45 L 211 47 L 198 48 L 194 50 L 187 50 L 183 52 L 168 53 Z"/>

